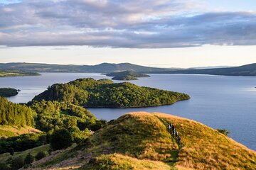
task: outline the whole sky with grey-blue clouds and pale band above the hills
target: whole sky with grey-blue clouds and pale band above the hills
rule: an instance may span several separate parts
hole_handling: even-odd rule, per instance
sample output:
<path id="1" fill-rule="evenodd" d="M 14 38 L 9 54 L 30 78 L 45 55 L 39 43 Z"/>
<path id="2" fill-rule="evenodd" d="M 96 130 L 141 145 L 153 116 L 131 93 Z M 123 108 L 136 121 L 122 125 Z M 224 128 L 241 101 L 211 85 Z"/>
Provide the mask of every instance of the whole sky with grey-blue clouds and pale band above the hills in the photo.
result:
<path id="1" fill-rule="evenodd" d="M 0 0 L 0 62 L 256 62 L 255 0 Z"/>

